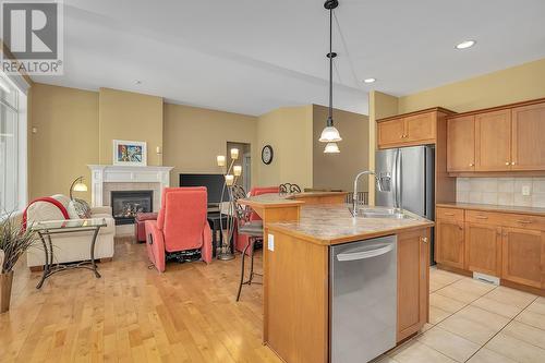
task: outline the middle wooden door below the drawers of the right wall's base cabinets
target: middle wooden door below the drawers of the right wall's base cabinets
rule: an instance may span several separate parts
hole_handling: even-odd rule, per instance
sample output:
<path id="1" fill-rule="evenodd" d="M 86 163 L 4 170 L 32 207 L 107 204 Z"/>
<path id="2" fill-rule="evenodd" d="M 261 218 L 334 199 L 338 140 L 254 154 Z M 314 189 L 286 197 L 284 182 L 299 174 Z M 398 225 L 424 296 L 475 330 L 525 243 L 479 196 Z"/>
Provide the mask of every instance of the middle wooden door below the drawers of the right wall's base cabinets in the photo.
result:
<path id="1" fill-rule="evenodd" d="M 465 222 L 465 268 L 500 276 L 501 227 Z"/>

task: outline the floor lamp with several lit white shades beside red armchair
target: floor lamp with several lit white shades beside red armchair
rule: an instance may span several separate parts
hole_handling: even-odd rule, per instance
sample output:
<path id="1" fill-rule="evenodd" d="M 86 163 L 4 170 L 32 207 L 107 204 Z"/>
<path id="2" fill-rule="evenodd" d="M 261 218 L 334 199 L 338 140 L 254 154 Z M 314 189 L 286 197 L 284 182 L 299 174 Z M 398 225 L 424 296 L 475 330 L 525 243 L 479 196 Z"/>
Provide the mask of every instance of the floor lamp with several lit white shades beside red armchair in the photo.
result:
<path id="1" fill-rule="evenodd" d="M 232 193 L 232 187 L 234 184 L 237 184 L 237 181 L 239 180 L 239 177 L 242 176 L 242 166 L 240 165 L 234 165 L 234 162 L 239 159 L 239 149 L 238 148 L 231 148 L 230 150 L 231 154 L 231 162 L 229 165 L 229 168 L 227 168 L 227 172 L 223 174 L 223 186 L 221 189 L 221 197 L 220 197 L 220 206 L 219 206 L 219 226 L 221 230 L 221 235 L 226 237 L 221 239 L 221 246 L 220 246 L 220 252 L 217 254 L 218 259 L 222 261 L 229 261 L 234 258 L 234 254 L 231 251 L 231 239 L 234 234 L 234 228 L 235 228 L 235 218 L 234 218 L 234 201 L 233 201 L 233 193 Z M 218 155 L 216 158 L 218 162 L 218 167 L 225 167 L 226 166 L 226 157 L 223 155 Z M 227 203 L 227 210 L 223 209 L 223 196 L 228 195 L 229 202 Z M 227 230 L 223 233 L 223 220 L 222 216 L 227 216 Z"/>

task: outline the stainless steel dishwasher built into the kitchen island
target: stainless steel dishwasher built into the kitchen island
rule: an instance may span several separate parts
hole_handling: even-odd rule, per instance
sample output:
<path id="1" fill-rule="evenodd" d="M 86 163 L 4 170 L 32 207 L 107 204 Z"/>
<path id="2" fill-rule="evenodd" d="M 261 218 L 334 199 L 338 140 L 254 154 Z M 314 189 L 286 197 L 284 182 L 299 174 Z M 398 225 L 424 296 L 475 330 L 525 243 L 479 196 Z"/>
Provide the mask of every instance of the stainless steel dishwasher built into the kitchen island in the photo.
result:
<path id="1" fill-rule="evenodd" d="M 330 250 L 331 363 L 367 362 L 396 346 L 397 238 Z"/>

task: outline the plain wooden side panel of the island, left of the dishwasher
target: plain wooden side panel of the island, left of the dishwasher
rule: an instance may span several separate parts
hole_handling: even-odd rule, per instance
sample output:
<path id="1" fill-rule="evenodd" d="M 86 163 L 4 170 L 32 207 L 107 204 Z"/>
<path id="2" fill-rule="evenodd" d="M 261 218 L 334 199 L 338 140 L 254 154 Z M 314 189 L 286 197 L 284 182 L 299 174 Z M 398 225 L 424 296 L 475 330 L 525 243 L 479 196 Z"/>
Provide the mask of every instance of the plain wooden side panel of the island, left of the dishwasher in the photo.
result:
<path id="1" fill-rule="evenodd" d="M 328 251 L 274 231 L 265 241 L 265 343 L 283 361 L 328 361 Z"/>

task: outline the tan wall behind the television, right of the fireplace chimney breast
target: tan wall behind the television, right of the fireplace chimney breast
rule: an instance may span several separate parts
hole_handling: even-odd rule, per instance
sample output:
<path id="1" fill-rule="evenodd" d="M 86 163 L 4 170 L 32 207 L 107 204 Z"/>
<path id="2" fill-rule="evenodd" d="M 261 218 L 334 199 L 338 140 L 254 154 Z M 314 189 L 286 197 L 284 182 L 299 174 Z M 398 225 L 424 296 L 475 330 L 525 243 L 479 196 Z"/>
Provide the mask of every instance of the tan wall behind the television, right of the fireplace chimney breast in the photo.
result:
<path id="1" fill-rule="evenodd" d="M 251 144 L 255 184 L 257 118 L 171 104 L 165 104 L 164 116 L 164 164 L 174 167 L 172 185 L 178 185 L 181 172 L 223 172 L 216 165 L 216 156 L 227 154 L 227 142 Z"/>

